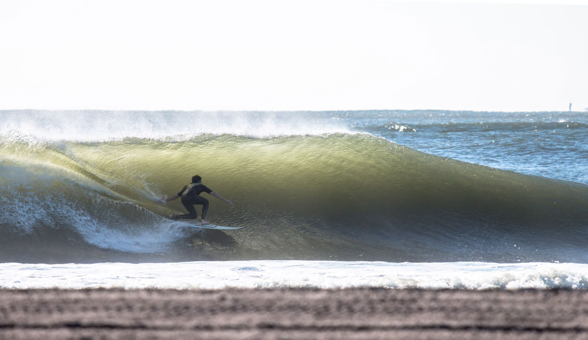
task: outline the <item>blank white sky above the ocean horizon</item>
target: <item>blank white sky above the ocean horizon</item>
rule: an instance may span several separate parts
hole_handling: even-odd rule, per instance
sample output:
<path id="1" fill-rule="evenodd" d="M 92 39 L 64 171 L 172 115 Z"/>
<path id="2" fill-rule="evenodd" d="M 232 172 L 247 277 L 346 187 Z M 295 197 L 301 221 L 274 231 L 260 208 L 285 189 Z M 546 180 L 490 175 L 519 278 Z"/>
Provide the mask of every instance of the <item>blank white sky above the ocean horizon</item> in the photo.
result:
<path id="1" fill-rule="evenodd" d="M 0 0 L 0 109 L 584 110 L 557 4 Z"/>

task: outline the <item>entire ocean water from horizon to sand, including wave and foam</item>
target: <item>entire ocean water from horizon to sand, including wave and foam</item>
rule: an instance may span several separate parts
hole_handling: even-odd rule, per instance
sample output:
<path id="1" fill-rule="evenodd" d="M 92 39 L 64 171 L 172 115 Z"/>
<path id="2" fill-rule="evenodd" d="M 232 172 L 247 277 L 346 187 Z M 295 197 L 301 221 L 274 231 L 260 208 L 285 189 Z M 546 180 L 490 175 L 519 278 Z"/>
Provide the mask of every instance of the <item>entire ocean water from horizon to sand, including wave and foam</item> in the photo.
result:
<path id="1" fill-rule="evenodd" d="M 0 117 L 0 287 L 586 288 L 586 113 Z"/>

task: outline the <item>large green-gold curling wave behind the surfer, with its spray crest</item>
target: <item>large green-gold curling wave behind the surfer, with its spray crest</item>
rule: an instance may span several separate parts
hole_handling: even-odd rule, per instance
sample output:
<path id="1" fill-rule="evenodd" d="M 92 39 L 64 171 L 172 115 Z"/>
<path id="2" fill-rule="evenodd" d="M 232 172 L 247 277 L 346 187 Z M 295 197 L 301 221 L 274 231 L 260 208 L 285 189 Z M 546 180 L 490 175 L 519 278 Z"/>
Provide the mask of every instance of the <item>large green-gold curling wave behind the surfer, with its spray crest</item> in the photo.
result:
<path id="1" fill-rule="evenodd" d="M 233 121 L 218 133 L 171 124 L 179 134 L 124 120 L 120 135 L 94 136 L 83 118 L 53 137 L 38 129 L 59 126 L 41 119 L 26 133 L 23 122 L 2 127 L 5 262 L 588 260 L 587 186 L 432 156 L 339 120 L 243 133 Z M 195 231 L 159 216 L 183 213 L 179 200 L 154 200 L 193 174 L 235 202 L 203 194 L 207 220 L 245 229 Z"/>

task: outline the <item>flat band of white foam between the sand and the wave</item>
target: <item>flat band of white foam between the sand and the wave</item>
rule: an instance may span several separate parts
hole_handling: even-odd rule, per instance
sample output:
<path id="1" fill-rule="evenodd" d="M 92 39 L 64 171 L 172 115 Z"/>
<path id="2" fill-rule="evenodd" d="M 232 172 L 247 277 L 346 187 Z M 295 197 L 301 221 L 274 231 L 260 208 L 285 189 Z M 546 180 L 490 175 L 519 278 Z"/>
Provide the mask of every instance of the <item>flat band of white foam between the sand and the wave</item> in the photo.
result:
<path id="1" fill-rule="evenodd" d="M 0 264 L 0 288 L 588 288 L 588 264 L 205 261 Z"/>

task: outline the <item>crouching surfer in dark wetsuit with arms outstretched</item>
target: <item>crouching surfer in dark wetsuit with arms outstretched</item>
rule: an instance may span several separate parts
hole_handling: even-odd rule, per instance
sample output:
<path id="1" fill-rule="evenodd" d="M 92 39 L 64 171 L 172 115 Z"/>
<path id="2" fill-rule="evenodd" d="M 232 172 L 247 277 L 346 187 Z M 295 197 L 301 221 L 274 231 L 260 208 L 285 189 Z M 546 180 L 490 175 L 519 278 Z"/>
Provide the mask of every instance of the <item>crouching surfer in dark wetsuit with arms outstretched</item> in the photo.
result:
<path id="1" fill-rule="evenodd" d="M 206 217 L 206 211 L 208 211 L 208 200 L 204 197 L 199 196 L 201 193 L 209 193 L 212 196 L 225 201 L 231 206 L 233 205 L 232 201 L 225 199 L 224 197 L 220 196 L 219 194 L 215 193 L 214 191 L 206 187 L 204 184 L 202 184 L 202 177 L 196 175 L 192 177 L 192 183 L 183 187 L 179 193 L 169 198 L 162 197 L 163 204 L 169 201 L 173 201 L 178 197 L 181 197 L 182 204 L 186 208 L 186 210 L 188 210 L 189 213 L 183 215 L 171 215 L 168 216 L 168 218 L 171 218 L 172 220 L 178 220 L 179 218 L 195 220 L 196 218 L 198 218 L 198 214 L 196 213 L 196 208 L 194 208 L 194 205 L 200 205 L 202 206 L 201 224 L 208 224 L 208 222 L 204 220 L 204 218 Z"/>

